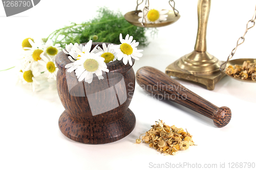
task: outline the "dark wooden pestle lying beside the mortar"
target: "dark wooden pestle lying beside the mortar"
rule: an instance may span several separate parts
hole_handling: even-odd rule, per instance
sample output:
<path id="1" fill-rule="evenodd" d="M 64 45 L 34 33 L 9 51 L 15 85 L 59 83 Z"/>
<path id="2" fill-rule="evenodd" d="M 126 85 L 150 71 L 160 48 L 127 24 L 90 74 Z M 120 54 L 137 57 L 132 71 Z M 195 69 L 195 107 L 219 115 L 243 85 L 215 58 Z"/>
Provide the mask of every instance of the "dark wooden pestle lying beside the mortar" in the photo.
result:
<path id="1" fill-rule="evenodd" d="M 136 72 L 137 83 L 146 91 L 157 95 L 160 99 L 176 102 L 212 120 L 222 128 L 231 119 L 231 110 L 228 107 L 217 107 L 203 99 L 196 93 L 188 90 L 177 81 L 153 67 L 141 67 Z"/>

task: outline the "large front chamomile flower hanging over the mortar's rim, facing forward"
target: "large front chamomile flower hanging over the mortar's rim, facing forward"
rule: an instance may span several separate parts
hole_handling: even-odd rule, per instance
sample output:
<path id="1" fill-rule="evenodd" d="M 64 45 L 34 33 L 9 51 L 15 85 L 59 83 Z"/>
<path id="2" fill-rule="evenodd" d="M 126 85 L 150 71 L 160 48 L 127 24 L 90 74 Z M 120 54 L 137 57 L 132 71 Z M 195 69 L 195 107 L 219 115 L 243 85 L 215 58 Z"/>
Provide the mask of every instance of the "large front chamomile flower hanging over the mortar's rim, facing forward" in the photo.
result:
<path id="1" fill-rule="evenodd" d="M 97 54 L 84 52 L 80 53 L 79 60 L 74 62 L 74 65 L 78 66 L 75 69 L 75 74 L 78 81 L 85 81 L 91 83 L 93 80 L 93 74 L 95 73 L 98 76 L 98 79 L 103 79 L 102 71 L 109 72 L 109 69 L 106 68 L 106 63 L 104 58 L 100 57 L 102 52 Z M 73 71 L 73 70 L 72 70 Z"/>

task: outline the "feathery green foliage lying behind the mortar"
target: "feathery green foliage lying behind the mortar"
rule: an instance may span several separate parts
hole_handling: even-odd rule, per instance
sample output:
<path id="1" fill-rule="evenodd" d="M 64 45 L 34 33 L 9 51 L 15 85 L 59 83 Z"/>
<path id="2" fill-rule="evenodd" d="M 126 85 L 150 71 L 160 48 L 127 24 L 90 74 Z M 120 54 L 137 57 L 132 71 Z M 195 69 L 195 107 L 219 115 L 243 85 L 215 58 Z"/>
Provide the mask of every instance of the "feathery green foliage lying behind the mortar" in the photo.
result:
<path id="1" fill-rule="evenodd" d="M 61 47 L 65 47 L 69 43 L 83 43 L 93 40 L 95 42 L 111 42 L 119 44 L 119 34 L 132 35 L 140 45 L 148 45 L 147 37 L 145 36 L 146 28 L 140 28 L 131 25 L 127 22 L 120 11 L 114 12 L 106 7 L 101 7 L 97 11 L 98 15 L 89 22 L 74 23 L 71 26 L 58 29 L 51 33 L 49 38 L 54 44 L 59 43 Z M 152 31 L 154 35 L 156 30 Z M 95 36 L 97 35 L 97 36 Z M 94 38 L 98 37 L 97 40 Z"/>

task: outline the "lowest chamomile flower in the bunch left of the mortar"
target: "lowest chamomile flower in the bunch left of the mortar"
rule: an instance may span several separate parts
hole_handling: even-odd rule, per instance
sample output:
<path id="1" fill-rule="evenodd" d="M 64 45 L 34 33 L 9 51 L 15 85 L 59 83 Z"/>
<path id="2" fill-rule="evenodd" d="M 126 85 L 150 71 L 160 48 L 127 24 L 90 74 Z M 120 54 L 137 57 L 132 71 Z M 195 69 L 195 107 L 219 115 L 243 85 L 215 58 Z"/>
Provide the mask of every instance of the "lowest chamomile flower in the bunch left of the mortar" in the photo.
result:
<path id="1" fill-rule="evenodd" d="M 30 69 L 20 70 L 20 78 L 23 81 L 23 84 L 29 83 L 32 86 L 33 91 L 35 91 L 35 87 L 39 85 L 37 81 L 37 77 L 40 75 L 40 71 L 38 67 L 35 67 L 34 64 L 31 65 Z"/>

